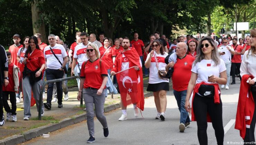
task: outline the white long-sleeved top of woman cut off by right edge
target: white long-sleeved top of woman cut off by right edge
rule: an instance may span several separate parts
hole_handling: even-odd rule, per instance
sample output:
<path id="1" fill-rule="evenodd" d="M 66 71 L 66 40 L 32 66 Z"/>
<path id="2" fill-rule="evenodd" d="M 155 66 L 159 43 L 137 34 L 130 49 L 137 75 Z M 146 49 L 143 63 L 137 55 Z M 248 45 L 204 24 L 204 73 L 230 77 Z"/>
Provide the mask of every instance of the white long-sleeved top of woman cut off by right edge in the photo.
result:
<path id="1" fill-rule="evenodd" d="M 254 81 L 256 82 L 256 55 L 252 55 L 250 51 L 248 55 L 248 50 L 245 51 L 244 58 L 240 67 L 240 75 L 252 75 L 254 76 Z"/>

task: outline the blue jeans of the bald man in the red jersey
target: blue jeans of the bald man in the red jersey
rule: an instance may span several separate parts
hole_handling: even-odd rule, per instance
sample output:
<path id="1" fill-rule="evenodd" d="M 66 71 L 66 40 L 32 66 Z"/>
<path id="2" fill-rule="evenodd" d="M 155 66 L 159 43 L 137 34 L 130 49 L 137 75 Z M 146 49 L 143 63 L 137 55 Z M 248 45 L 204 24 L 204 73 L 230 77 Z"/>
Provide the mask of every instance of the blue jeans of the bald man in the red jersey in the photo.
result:
<path id="1" fill-rule="evenodd" d="M 177 101 L 177 104 L 181 113 L 180 123 L 185 124 L 190 122 L 189 113 L 185 109 L 185 99 L 187 95 L 187 90 L 184 90 L 184 91 L 173 90 L 173 94 L 175 96 L 175 99 Z"/>

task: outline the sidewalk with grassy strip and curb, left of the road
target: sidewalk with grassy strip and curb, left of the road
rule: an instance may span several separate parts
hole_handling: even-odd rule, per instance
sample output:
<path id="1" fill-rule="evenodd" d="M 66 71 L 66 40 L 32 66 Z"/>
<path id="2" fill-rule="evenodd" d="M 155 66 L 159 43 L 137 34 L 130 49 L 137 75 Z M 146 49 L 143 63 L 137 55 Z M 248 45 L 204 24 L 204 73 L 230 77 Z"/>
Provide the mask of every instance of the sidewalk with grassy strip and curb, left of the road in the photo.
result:
<path id="1" fill-rule="evenodd" d="M 144 76 L 145 77 L 145 76 Z M 144 78 L 144 95 L 152 96 L 152 92 L 147 92 L 148 77 Z M 31 118 L 23 120 L 24 109 L 21 109 L 23 103 L 17 104 L 17 122 L 6 121 L 3 127 L 0 127 L 0 145 L 17 144 L 28 141 L 39 135 L 81 122 L 86 119 L 86 112 L 80 107 L 80 101 L 76 99 L 78 88 L 70 88 L 67 101 L 63 100 L 63 108 L 57 107 L 57 102 L 52 103 L 52 110 L 45 109 L 44 117 L 38 120 L 38 112 L 36 106 L 31 107 Z M 46 102 L 46 100 L 44 100 Z M 105 112 L 120 108 L 120 94 L 108 95 L 105 101 Z M 83 103 L 84 104 L 84 103 Z M 112 104 L 112 105 L 111 105 Z M 10 102 L 9 102 L 10 105 Z M 6 119 L 6 112 L 4 112 Z"/>

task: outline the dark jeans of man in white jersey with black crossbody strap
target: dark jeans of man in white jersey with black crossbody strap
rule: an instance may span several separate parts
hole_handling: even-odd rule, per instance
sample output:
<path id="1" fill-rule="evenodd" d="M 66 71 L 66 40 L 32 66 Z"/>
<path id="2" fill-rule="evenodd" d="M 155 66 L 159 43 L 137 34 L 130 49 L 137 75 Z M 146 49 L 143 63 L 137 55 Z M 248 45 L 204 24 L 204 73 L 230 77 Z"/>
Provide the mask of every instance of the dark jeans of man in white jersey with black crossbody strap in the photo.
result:
<path id="1" fill-rule="evenodd" d="M 50 69 L 47 68 L 45 70 L 46 72 L 46 79 L 47 80 L 53 80 L 53 79 L 60 79 L 63 78 L 64 71 L 59 69 Z M 49 83 L 47 88 L 47 103 L 52 104 L 51 101 L 53 99 L 53 85 L 54 83 Z M 62 103 L 62 97 L 63 97 L 63 89 L 62 89 L 62 82 L 56 82 L 57 87 L 57 98 L 58 98 L 58 104 Z"/>

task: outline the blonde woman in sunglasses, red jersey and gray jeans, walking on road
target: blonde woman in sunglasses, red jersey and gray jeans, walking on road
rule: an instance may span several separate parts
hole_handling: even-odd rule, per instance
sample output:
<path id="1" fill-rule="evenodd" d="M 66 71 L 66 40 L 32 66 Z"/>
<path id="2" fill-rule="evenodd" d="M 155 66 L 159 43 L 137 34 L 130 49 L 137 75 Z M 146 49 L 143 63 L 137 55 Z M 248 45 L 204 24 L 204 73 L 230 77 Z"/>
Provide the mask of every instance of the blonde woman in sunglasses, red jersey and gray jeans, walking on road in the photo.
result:
<path id="1" fill-rule="evenodd" d="M 90 135 L 87 143 L 92 143 L 95 141 L 93 105 L 95 106 L 96 117 L 103 126 L 104 136 L 107 137 L 109 134 L 107 119 L 104 116 L 105 88 L 108 81 L 108 71 L 105 62 L 99 59 L 99 50 L 94 43 L 90 43 L 86 51 L 89 60 L 82 64 L 80 89 L 83 88 L 83 99 L 87 111 L 87 126 Z M 81 92 L 82 90 L 79 90 L 77 95 L 78 100 L 82 97 Z"/>

